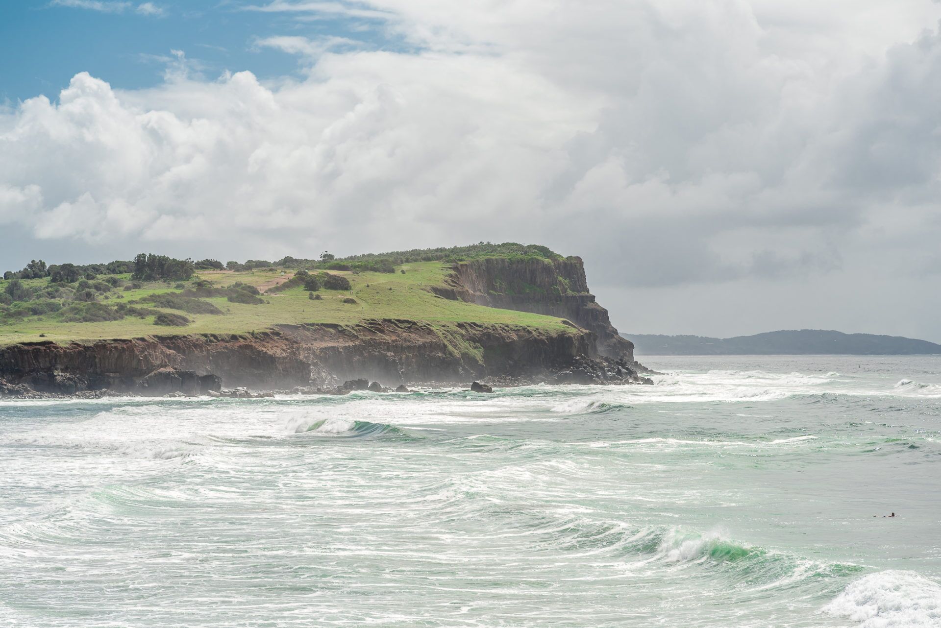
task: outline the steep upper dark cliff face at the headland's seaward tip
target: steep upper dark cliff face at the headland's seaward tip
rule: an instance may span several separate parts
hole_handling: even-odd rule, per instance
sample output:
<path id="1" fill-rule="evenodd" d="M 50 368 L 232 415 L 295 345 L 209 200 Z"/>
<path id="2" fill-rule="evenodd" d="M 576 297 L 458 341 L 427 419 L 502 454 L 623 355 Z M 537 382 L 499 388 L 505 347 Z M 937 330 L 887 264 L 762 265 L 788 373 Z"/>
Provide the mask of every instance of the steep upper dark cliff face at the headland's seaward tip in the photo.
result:
<path id="1" fill-rule="evenodd" d="M 455 264 L 445 298 L 547 314 L 574 322 L 597 337 L 598 354 L 634 361 L 634 345 L 621 338 L 588 291 L 582 258 L 473 259 Z"/>

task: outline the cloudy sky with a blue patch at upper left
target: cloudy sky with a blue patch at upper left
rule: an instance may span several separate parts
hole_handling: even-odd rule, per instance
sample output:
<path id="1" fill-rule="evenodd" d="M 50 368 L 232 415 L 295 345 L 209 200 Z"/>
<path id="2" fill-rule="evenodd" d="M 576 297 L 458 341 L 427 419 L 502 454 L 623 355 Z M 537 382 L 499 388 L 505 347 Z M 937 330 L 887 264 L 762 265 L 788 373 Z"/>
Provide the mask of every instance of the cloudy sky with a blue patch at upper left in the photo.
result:
<path id="1" fill-rule="evenodd" d="M 941 342 L 937 0 L 23 0 L 0 59 L 0 270 L 543 243 L 624 332 Z"/>

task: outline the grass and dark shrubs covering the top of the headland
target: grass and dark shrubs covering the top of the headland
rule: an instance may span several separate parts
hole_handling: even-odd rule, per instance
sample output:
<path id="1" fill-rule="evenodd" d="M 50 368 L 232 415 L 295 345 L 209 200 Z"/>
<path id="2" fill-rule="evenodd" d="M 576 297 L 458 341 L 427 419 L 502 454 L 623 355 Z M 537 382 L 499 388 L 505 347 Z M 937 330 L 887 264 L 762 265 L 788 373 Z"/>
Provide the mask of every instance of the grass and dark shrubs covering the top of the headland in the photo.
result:
<path id="1" fill-rule="evenodd" d="M 481 243 L 347 259 L 248 260 L 226 269 L 212 259 L 160 256 L 84 267 L 32 262 L 28 273 L 0 280 L 0 345 L 240 334 L 279 324 L 372 319 L 429 322 L 443 331 L 477 322 L 572 332 L 558 318 L 449 300 L 431 290 L 447 284 L 452 260 L 488 256 L 561 259 L 541 246 Z M 314 292 L 320 298 L 312 298 Z"/>

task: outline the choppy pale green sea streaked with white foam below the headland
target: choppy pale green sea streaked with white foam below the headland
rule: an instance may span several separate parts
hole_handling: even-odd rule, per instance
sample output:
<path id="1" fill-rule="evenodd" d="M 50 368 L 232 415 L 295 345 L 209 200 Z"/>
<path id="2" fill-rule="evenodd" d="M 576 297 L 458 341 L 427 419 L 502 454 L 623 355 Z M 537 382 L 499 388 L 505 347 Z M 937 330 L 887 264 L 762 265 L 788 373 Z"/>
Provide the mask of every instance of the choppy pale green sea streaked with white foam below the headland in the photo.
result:
<path id="1" fill-rule="evenodd" d="M 0 625 L 941 626 L 941 358 L 645 362 L 0 401 Z"/>

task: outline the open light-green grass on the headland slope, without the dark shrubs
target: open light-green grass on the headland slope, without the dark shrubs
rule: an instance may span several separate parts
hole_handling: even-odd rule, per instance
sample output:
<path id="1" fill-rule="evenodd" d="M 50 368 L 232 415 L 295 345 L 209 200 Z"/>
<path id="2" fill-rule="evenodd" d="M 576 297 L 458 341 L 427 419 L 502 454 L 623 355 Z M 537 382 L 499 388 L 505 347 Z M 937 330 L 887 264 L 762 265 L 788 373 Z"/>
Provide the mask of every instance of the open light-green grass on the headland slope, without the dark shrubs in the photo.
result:
<path id="1" fill-rule="evenodd" d="M 528 312 L 518 312 L 493 307 L 448 301 L 426 288 L 443 283 L 448 266 L 439 261 L 408 263 L 401 267 L 405 275 L 396 269 L 394 274 L 343 273 L 352 284 L 352 290 L 320 290 L 323 300 L 314 301 L 301 288 L 279 293 L 265 294 L 270 303 L 248 306 L 230 303 L 224 298 L 206 299 L 226 312 L 224 316 L 211 314 L 185 314 L 193 322 L 186 327 L 163 327 L 153 324 L 153 318 L 125 318 L 114 322 L 58 322 L 55 314 L 29 317 L 11 324 L 0 324 L 0 345 L 40 339 L 65 342 L 71 340 L 93 340 L 100 338 L 140 338 L 150 335 L 185 335 L 202 333 L 244 333 L 262 331 L 274 324 L 302 322 L 335 322 L 354 324 L 364 319 L 396 318 L 431 322 L 442 328 L 450 328 L 454 322 L 482 322 L 523 325 L 545 328 L 556 332 L 571 333 L 559 319 Z M 276 280 L 292 275 L 292 271 L 230 273 L 226 271 L 199 271 L 200 278 L 209 279 L 216 286 L 225 287 L 236 281 L 254 286 L 270 286 Z M 120 275 L 128 278 L 128 275 Z M 103 278 L 103 277 L 99 277 Z M 30 279 L 27 285 L 44 285 L 47 279 Z M 5 282 L 0 280 L 0 290 Z M 391 290 L 390 290 L 391 288 Z M 178 292 L 167 284 L 146 284 L 141 290 L 121 291 L 123 301 L 108 300 L 117 304 L 136 301 L 143 296 L 159 292 Z M 343 298 L 353 297 L 356 305 L 344 304 Z M 141 304 L 150 307 L 151 304 Z M 163 311 L 181 313 L 179 310 Z M 45 334 L 45 338 L 40 338 Z"/>

